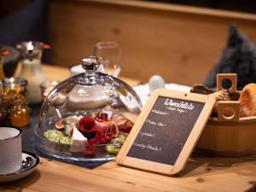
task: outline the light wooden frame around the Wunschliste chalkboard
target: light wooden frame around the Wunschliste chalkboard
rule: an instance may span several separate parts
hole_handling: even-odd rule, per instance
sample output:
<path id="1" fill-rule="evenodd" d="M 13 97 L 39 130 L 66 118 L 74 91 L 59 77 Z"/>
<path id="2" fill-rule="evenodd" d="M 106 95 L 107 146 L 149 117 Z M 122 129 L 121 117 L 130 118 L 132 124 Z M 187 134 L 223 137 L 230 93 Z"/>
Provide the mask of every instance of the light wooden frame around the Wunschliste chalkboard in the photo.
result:
<path id="1" fill-rule="evenodd" d="M 195 124 L 191 125 L 193 126 L 193 128 L 189 132 L 189 137 L 183 144 L 183 148 L 178 154 L 177 159 L 175 160 L 175 163 L 173 165 L 155 162 L 153 160 L 143 160 L 143 158 L 131 157 L 131 155 L 129 154 L 130 150 L 133 149 L 133 143 L 137 140 L 138 134 L 142 130 L 143 125 L 148 118 L 148 115 L 151 113 L 152 108 L 154 108 L 155 103 L 159 100 L 160 97 L 178 99 L 183 102 L 203 104 L 198 118 L 195 119 Z M 174 175 L 177 172 L 180 172 L 185 166 L 187 160 L 189 160 L 189 156 L 195 148 L 195 144 L 201 136 L 201 132 L 203 131 L 204 126 L 207 124 L 207 119 L 209 119 L 212 113 L 212 108 L 215 101 L 216 99 L 213 94 L 206 96 L 174 90 L 155 90 L 154 93 L 149 97 L 148 102 L 143 108 L 142 113 L 140 113 L 135 125 L 131 130 L 131 133 L 126 138 L 123 147 L 120 149 L 116 159 L 117 163 L 121 166 L 129 166 L 144 171 L 157 172 L 166 175 Z M 170 125 L 168 125 L 167 127 L 170 127 Z M 168 152 L 172 153 L 172 151 Z M 129 154 L 130 156 L 128 156 L 127 154 Z"/>

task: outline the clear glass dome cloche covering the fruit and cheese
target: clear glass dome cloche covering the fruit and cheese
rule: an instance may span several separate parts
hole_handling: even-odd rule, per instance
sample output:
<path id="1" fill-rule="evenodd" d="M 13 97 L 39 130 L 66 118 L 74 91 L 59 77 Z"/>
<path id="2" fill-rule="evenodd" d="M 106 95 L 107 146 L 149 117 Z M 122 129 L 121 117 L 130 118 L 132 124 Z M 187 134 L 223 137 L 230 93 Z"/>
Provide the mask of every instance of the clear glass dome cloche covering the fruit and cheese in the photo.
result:
<path id="1" fill-rule="evenodd" d="M 45 98 L 35 127 L 36 148 L 65 161 L 113 160 L 141 112 L 131 86 L 96 72 L 95 56 L 85 72 L 57 84 Z"/>

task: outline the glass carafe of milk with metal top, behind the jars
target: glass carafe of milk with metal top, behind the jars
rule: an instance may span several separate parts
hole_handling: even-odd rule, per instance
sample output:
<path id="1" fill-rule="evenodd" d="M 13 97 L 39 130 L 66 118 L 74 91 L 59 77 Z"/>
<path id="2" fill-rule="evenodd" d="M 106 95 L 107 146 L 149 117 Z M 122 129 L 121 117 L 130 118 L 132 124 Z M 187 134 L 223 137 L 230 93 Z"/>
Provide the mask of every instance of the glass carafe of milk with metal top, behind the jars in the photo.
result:
<path id="1" fill-rule="evenodd" d="M 44 82 L 44 72 L 41 68 L 41 57 L 44 43 L 37 41 L 22 42 L 16 45 L 22 56 L 20 78 L 27 80 L 28 102 L 41 102 L 40 84 Z"/>

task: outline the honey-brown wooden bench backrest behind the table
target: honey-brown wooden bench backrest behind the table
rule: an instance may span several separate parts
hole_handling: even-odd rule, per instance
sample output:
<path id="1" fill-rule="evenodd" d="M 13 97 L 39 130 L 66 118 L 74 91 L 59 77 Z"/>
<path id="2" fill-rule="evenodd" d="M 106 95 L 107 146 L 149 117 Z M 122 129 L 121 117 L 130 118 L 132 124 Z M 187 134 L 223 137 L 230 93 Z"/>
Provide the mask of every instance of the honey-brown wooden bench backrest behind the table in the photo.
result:
<path id="1" fill-rule="evenodd" d="M 256 42 L 256 16 L 138 1 L 50 1 L 56 65 L 72 66 L 99 41 L 116 41 L 122 76 L 191 85 L 206 79 L 224 48 L 230 22 Z"/>

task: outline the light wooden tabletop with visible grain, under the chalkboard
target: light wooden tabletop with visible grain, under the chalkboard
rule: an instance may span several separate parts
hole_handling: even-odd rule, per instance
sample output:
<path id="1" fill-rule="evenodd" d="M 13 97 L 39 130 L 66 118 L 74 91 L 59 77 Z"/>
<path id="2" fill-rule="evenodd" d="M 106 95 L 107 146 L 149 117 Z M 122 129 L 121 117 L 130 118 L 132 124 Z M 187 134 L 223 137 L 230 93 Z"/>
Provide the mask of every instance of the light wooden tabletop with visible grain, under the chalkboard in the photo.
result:
<path id="1" fill-rule="evenodd" d="M 67 69 L 61 67 L 44 67 L 44 72 L 47 79 L 61 80 L 69 76 Z M 45 158 L 40 160 L 32 175 L 13 183 L 0 184 L 0 191 L 256 191 L 256 155 L 241 158 L 193 157 L 177 177 L 118 166 L 115 161 L 87 169 Z"/>

